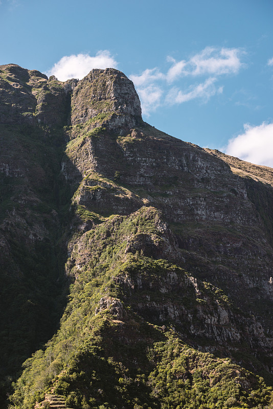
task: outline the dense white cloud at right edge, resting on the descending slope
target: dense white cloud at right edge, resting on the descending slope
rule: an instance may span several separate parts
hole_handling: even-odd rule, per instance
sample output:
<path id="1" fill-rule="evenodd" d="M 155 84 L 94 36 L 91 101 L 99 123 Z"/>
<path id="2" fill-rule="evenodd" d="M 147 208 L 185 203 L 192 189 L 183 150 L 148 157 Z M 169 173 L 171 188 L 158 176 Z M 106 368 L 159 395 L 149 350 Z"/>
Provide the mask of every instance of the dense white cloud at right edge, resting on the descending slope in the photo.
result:
<path id="1" fill-rule="evenodd" d="M 273 123 L 244 124 L 244 130 L 229 141 L 225 153 L 246 162 L 273 167 Z"/>

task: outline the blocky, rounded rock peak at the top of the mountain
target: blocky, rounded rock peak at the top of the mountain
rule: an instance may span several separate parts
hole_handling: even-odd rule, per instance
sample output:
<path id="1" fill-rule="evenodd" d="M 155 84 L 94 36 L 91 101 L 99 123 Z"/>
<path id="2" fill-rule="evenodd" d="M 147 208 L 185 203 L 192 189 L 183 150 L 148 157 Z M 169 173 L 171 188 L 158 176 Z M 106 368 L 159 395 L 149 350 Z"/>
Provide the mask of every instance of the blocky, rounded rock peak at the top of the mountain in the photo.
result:
<path id="1" fill-rule="evenodd" d="M 72 125 L 103 126 L 124 133 L 141 122 L 139 96 L 121 71 L 94 69 L 74 89 Z"/>

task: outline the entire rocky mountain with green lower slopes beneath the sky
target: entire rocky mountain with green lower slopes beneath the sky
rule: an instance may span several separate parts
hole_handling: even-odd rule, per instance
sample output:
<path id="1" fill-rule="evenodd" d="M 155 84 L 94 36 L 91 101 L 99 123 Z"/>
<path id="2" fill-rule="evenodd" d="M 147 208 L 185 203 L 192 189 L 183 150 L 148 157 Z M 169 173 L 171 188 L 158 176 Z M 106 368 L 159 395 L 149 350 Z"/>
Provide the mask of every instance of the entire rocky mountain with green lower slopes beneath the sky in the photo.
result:
<path id="1" fill-rule="evenodd" d="M 273 169 L 114 69 L 0 66 L 0 137 L 1 407 L 273 407 Z"/>

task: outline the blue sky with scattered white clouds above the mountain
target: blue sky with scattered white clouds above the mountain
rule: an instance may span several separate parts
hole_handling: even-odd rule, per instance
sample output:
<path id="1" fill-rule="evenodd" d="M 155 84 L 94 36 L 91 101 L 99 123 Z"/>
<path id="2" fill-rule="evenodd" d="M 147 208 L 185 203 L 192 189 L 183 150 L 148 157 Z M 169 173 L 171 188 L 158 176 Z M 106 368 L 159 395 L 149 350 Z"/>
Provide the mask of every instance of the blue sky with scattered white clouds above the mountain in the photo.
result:
<path id="1" fill-rule="evenodd" d="M 271 0 L 0 0 L 0 64 L 114 66 L 151 125 L 273 167 L 272 23 Z"/>

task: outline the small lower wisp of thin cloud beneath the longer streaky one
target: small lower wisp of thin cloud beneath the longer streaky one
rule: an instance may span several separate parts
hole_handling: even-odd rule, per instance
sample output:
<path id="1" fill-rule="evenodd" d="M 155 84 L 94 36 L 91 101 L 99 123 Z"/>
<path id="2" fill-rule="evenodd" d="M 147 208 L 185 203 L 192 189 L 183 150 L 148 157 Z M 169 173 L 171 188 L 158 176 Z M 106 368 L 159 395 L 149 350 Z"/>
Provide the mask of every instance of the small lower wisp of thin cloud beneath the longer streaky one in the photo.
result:
<path id="1" fill-rule="evenodd" d="M 191 86 L 191 89 L 184 93 L 177 88 L 172 88 L 166 97 L 168 105 L 181 104 L 195 98 L 201 98 L 204 102 L 208 101 L 216 93 L 222 93 L 222 87 L 216 88 L 214 82 L 216 78 L 208 78 L 205 82 Z"/>

